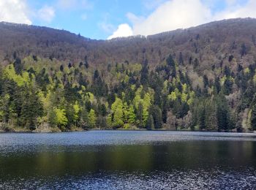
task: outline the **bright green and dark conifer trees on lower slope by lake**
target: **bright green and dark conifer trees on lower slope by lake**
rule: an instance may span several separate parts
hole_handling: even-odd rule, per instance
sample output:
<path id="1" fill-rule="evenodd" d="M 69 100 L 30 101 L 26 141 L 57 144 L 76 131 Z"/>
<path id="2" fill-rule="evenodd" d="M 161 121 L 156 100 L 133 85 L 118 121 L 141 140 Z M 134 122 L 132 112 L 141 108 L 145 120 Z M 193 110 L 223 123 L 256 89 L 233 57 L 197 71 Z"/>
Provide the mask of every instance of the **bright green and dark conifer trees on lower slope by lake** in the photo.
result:
<path id="1" fill-rule="evenodd" d="M 1 66 L 1 128 L 256 130 L 255 64 L 79 63 L 29 56 Z M 3 64 L 4 65 L 4 64 Z"/>

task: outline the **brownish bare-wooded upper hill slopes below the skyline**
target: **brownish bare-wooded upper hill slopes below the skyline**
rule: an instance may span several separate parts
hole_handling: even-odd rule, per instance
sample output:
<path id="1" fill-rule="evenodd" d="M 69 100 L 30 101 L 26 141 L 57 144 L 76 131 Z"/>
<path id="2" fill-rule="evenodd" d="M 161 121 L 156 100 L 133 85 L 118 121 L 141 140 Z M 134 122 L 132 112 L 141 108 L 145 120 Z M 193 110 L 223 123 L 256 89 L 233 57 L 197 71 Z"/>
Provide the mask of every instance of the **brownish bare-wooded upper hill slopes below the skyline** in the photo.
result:
<path id="1" fill-rule="evenodd" d="M 148 37 L 111 40 L 94 40 L 64 30 L 2 22 L 0 60 L 12 60 L 16 52 L 20 58 L 37 55 L 74 62 L 87 56 L 95 65 L 141 63 L 147 58 L 149 64 L 155 65 L 171 53 L 177 59 L 182 54 L 184 64 L 197 58 L 200 66 L 214 66 L 227 61 L 230 55 L 241 62 L 254 61 L 255 37 L 256 19 L 253 18 L 221 20 Z"/>

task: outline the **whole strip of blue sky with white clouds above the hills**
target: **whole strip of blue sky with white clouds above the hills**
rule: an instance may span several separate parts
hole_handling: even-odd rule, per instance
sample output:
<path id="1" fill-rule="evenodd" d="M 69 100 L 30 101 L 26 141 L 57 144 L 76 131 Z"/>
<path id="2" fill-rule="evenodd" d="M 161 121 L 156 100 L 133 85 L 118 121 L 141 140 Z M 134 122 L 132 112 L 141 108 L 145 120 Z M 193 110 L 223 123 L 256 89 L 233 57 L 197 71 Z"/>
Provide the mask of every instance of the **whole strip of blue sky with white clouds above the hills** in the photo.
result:
<path id="1" fill-rule="evenodd" d="M 255 10 L 256 0 L 0 0 L 0 21 L 113 39 L 256 18 Z"/>

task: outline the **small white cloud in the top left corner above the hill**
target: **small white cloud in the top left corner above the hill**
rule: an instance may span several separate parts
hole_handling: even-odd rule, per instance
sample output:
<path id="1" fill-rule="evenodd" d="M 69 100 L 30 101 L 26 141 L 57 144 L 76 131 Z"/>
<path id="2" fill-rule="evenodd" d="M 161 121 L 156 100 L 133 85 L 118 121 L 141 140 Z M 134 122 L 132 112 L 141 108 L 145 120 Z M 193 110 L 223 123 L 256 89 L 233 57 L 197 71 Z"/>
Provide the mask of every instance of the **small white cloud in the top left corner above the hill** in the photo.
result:
<path id="1" fill-rule="evenodd" d="M 32 22 L 28 16 L 26 1 L 1 0 L 0 21 L 31 24 Z"/>

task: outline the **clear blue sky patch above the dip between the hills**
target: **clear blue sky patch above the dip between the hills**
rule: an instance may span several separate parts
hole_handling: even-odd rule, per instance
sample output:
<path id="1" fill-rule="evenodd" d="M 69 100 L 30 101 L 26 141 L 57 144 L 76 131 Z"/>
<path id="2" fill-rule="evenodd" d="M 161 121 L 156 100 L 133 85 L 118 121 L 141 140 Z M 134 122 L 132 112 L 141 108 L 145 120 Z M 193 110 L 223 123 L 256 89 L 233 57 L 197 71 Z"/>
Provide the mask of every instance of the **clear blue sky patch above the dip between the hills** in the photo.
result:
<path id="1" fill-rule="evenodd" d="M 86 1 L 86 4 L 78 2 L 74 7 L 61 7 L 60 1 L 28 1 L 30 6 L 40 9 L 42 5 L 56 7 L 55 17 L 49 22 L 34 18 L 35 25 L 50 26 L 53 28 L 64 28 L 76 34 L 80 33 L 92 39 L 106 39 L 120 23 L 129 23 L 126 12 L 135 14 L 148 14 L 144 9 L 142 1 L 109 1 L 94 0 Z M 81 6 L 81 7 L 80 7 Z"/>

